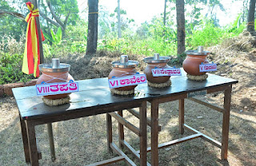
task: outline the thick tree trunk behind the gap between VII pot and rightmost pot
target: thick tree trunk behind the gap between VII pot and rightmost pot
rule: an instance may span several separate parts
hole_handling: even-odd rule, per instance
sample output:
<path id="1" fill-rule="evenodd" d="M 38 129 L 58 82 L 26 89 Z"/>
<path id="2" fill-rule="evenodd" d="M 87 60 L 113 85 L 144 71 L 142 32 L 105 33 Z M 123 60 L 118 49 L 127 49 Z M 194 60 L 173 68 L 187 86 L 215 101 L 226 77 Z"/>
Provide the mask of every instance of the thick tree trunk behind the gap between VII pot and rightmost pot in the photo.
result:
<path id="1" fill-rule="evenodd" d="M 176 14 L 177 14 L 177 40 L 178 49 L 177 54 L 180 55 L 186 50 L 185 47 L 185 15 L 184 15 L 184 0 L 176 0 Z"/>

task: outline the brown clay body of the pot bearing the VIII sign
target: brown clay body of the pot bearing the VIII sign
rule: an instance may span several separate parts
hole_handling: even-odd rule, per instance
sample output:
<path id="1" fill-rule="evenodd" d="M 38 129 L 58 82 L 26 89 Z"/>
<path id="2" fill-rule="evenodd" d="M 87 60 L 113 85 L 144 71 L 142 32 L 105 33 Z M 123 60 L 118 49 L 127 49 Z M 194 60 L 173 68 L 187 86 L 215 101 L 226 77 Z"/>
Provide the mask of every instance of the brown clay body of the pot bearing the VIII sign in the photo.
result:
<path id="1" fill-rule="evenodd" d="M 54 83 L 54 82 L 65 82 L 63 80 L 59 79 L 53 79 L 53 77 L 58 77 L 63 80 L 66 80 L 66 82 L 69 82 L 70 80 L 74 81 L 74 78 L 70 75 L 68 72 L 62 72 L 62 73 L 48 73 L 48 72 L 42 72 L 42 75 L 38 77 L 37 85 L 42 84 L 42 82 L 46 83 Z M 64 93 L 64 94 L 56 94 L 56 95 L 49 95 L 49 96 L 44 96 L 47 99 L 60 99 L 64 98 L 70 95 L 70 93 Z"/>

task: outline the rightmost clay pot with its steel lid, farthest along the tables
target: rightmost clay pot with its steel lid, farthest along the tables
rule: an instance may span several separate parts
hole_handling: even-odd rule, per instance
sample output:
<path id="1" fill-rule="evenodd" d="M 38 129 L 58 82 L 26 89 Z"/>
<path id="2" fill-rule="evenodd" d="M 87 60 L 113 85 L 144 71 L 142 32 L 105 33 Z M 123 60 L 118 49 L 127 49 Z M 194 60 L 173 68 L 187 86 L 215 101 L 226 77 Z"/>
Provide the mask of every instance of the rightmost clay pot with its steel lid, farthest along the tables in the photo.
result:
<path id="1" fill-rule="evenodd" d="M 201 76 L 206 74 L 206 72 L 199 71 L 199 65 L 202 63 L 209 63 L 207 60 L 207 55 L 209 55 L 209 51 L 203 51 L 202 46 L 198 46 L 198 50 L 191 50 L 186 52 L 186 59 L 183 61 L 183 69 L 186 73 L 193 76 Z"/>

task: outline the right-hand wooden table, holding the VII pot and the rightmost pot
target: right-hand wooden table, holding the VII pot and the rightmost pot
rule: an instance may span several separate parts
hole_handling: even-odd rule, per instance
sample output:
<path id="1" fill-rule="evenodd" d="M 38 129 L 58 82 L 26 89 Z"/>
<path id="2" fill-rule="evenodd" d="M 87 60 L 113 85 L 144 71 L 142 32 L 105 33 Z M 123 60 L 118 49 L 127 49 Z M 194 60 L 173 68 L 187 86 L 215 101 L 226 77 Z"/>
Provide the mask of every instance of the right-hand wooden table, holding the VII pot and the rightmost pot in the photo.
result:
<path id="1" fill-rule="evenodd" d="M 208 73 L 209 74 L 209 73 Z M 166 148 L 170 145 L 182 143 L 186 140 L 192 140 L 194 138 L 201 137 L 203 140 L 214 144 L 218 148 L 221 148 L 222 160 L 227 159 L 228 151 L 228 139 L 229 139 L 229 125 L 230 125 L 230 101 L 231 101 L 231 89 L 232 84 L 238 83 L 238 81 L 209 74 L 206 81 L 190 81 L 187 79 L 184 70 L 182 71 L 182 77 L 171 77 L 172 85 L 164 89 L 154 89 L 146 85 L 138 86 L 138 90 L 151 97 L 151 147 L 147 148 L 147 152 L 151 152 L 151 164 L 158 166 L 158 149 Z M 214 93 L 224 91 L 224 108 L 220 108 L 216 105 L 211 105 L 206 101 L 200 101 L 194 98 L 198 95 L 204 95 L 207 93 Z M 184 99 L 190 99 L 198 104 L 205 105 L 211 109 L 217 110 L 223 114 L 222 117 L 222 143 L 217 140 L 206 136 L 205 134 L 198 132 L 196 129 L 191 128 L 184 123 Z M 194 132 L 194 135 L 186 136 L 178 140 L 171 140 L 166 143 L 158 144 L 158 106 L 160 103 L 179 100 L 179 132 L 183 134 L 184 128 Z"/>

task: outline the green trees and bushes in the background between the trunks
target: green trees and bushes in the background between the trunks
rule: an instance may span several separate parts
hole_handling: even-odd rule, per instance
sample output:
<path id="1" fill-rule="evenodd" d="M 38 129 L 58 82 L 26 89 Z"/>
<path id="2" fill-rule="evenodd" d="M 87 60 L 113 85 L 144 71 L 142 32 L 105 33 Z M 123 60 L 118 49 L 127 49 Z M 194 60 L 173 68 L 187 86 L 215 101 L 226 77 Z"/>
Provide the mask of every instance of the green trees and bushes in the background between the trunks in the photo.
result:
<path id="1" fill-rule="evenodd" d="M 0 10 L 26 15 L 28 10 L 25 2 L 3 0 L 0 2 Z M 246 2 L 248 4 L 248 1 L 245 1 L 245 6 Z M 87 21 L 79 17 L 77 1 L 43 0 L 38 4 L 43 15 L 40 21 L 46 37 L 43 42 L 46 59 L 56 55 L 86 53 Z M 54 13 L 50 12 L 50 7 Z M 205 15 L 202 14 L 203 7 L 209 9 Z M 198 45 L 220 44 L 227 38 L 238 36 L 246 28 L 247 7 L 244 7 L 234 22 L 227 26 L 219 26 L 216 12 L 214 13 L 217 8 L 225 10 L 219 1 L 186 0 L 185 8 L 191 9 L 185 11 L 186 49 L 196 49 Z M 165 25 L 162 14 L 152 18 L 150 22 L 143 22 L 135 29 L 134 19 L 127 18 L 126 11 L 121 10 L 122 38 L 118 38 L 117 10 L 110 13 L 104 6 L 99 6 L 98 50 L 146 56 L 160 53 L 162 56 L 177 57 L 174 11 L 174 1 L 169 0 Z M 21 72 L 26 22 L 14 14 L 0 14 L 0 30 L 0 74 L 3 76 L 0 77 L 0 84 L 29 80 L 32 76 L 25 76 Z"/>

